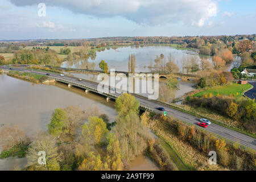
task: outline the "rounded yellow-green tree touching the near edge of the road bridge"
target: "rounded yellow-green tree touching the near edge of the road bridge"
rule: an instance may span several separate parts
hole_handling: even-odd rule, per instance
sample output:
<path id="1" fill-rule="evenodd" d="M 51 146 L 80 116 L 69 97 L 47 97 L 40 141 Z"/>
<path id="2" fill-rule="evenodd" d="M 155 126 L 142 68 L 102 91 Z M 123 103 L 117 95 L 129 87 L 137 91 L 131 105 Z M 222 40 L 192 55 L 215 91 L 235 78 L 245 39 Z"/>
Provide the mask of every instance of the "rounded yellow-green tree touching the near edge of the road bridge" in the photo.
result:
<path id="1" fill-rule="evenodd" d="M 119 115 L 127 115 L 131 112 L 138 113 L 139 101 L 131 94 L 123 93 L 115 100 L 115 110 Z"/>

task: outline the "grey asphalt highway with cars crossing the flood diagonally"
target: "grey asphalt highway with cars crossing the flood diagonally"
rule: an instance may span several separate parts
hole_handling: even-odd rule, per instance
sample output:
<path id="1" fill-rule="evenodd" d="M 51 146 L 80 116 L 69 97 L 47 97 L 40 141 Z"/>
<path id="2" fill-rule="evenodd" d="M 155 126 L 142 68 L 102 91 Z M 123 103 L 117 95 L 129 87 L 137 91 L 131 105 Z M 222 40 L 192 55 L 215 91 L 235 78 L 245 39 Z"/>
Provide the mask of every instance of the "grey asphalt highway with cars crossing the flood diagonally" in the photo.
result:
<path id="1" fill-rule="evenodd" d="M 6 68 L 6 69 L 9 69 L 9 68 Z M 46 75 L 45 72 L 24 70 L 23 68 L 12 68 L 12 70 L 27 71 L 27 72 L 31 72 L 31 73 L 38 73 L 40 75 Z M 89 88 L 91 88 L 89 90 L 92 90 L 93 92 L 97 92 L 97 86 L 98 86 L 97 82 L 92 82 L 92 81 L 88 81 L 88 80 L 84 80 L 84 79 L 82 79 L 82 81 L 79 81 L 79 78 L 76 78 L 76 77 L 71 77 L 71 76 L 61 77 L 60 75 L 53 74 L 53 73 L 49 73 L 49 77 L 55 78 L 57 81 L 62 80 L 62 82 L 70 83 L 71 85 L 75 85 L 75 86 L 80 86 L 81 88 L 86 89 L 89 87 Z M 103 95 L 110 96 L 108 94 L 103 94 Z M 116 98 L 120 95 L 121 94 L 113 93 L 113 94 L 111 94 L 110 98 Z M 161 104 L 160 102 L 156 102 L 154 100 L 147 100 L 147 98 L 144 98 L 144 97 L 141 97 L 141 96 L 138 96 L 135 94 L 133 94 L 133 95 L 137 98 L 137 100 L 139 100 L 142 107 L 146 106 L 146 109 L 150 109 L 151 111 L 153 110 L 155 113 L 162 113 L 162 111 L 159 111 L 156 108 L 164 107 L 164 109 L 167 111 L 167 115 L 171 115 L 174 118 L 180 119 L 180 120 L 190 123 L 192 125 L 196 125 L 197 122 L 200 121 L 199 118 L 197 118 L 193 115 L 183 113 L 179 110 L 172 109 L 170 107 L 167 107 L 164 104 Z M 203 129 L 203 128 L 201 128 L 201 129 Z M 210 124 L 204 130 L 210 131 L 216 135 L 219 135 L 226 139 L 232 140 L 233 142 L 241 143 L 243 146 L 246 146 L 246 147 L 256 150 L 256 139 L 253 137 L 249 137 L 247 135 L 238 133 L 237 131 L 230 130 L 226 127 L 222 127 L 222 126 L 214 124 L 214 123 Z"/>

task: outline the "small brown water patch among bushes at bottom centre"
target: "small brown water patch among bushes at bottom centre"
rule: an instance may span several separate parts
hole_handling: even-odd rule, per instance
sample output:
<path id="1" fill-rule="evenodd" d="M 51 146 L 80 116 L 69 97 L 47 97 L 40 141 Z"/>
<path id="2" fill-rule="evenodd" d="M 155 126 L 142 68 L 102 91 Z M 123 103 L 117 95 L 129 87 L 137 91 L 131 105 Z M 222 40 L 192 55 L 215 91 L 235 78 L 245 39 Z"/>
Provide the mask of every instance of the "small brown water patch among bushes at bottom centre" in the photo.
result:
<path id="1" fill-rule="evenodd" d="M 129 171 L 159 171 L 158 166 L 144 155 L 137 156 L 129 166 Z"/>

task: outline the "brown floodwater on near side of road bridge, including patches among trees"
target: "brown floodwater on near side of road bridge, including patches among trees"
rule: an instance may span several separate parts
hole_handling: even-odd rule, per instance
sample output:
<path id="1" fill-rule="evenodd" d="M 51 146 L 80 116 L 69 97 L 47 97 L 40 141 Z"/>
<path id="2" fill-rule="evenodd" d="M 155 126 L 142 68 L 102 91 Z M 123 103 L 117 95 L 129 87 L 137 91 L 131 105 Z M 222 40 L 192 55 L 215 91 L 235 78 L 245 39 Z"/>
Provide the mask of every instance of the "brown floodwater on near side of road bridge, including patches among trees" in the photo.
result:
<path id="1" fill-rule="evenodd" d="M 47 130 L 51 115 L 56 108 L 69 105 L 80 106 L 81 109 L 97 107 L 100 113 L 109 116 L 113 122 L 117 116 L 113 101 L 93 93 L 85 93 L 78 88 L 68 88 L 56 82 L 52 85 L 37 85 L 0 74 L 0 128 L 3 125 L 18 125 L 25 133 L 33 137 L 40 131 Z M 0 149 L 1 152 L 1 149 Z M 26 158 L 11 157 L 0 159 L 0 171 L 22 169 L 26 166 Z M 137 158 L 131 162 L 131 168 L 144 170 L 157 169 L 148 158 Z"/>

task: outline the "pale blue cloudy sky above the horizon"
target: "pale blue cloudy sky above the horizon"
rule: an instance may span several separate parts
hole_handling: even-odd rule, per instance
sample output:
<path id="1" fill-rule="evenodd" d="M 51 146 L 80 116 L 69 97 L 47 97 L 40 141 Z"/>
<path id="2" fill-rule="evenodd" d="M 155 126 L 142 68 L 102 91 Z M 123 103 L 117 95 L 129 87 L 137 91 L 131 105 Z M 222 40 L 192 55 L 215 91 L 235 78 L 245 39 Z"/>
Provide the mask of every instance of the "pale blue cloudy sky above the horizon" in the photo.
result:
<path id="1" fill-rule="evenodd" d="M 255 0 L 0 0 L 0 40 L 256 33 Z"/>

